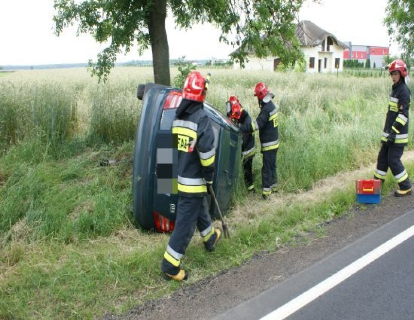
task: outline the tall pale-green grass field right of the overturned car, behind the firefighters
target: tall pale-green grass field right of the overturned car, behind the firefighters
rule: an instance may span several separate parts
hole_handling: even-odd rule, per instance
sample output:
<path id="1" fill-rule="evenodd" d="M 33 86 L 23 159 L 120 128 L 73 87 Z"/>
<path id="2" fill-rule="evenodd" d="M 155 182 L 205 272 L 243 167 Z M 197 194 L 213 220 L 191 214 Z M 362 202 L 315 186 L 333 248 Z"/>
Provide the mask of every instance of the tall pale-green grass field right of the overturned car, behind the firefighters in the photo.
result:
<path id="1" fill-rule="evenodd" d="M 283 190 L 308 190 L 321 178 L 376 159 L 392 84 L 389 77 L 358 80 L 336 74 L 215 71 L 207 99 L 224 111 L 224 101 L 236 94 L 255 118 L 259 107 L 253 88 L 258 81 L 275 93 L 279 108 L 277 171 Z M 410 140 L 413 135 L 411 129 Z M 255 158 L 258 186 L 260 161 Z"/>

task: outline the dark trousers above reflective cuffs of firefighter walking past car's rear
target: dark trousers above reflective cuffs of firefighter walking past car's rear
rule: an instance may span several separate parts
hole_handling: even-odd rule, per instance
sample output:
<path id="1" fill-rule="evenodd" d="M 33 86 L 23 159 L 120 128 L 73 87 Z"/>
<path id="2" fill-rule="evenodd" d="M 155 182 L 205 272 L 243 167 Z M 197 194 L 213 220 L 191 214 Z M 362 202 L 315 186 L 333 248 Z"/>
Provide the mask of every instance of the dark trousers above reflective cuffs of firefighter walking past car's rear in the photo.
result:
<path id="1" fill-rule="evenodd" d="M 213 228 L 208 213 L 207 196 L 178 196 L 177 217 L 173 233 L 168 242 L 169 247 L 183 255 L 190 244 L 196 226 L 202 236 Z"/>

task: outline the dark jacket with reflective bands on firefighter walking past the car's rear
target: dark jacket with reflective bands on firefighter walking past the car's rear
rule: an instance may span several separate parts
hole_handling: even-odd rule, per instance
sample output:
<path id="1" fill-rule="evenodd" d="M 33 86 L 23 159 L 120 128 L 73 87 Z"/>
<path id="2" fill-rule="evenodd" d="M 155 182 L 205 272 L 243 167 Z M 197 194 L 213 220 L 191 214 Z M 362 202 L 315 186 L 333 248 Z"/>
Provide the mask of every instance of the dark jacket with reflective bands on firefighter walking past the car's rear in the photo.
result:
<path id="1" fill-rule="evenodd" d="M 205 196 L 213 181 L 214 133 L 203 103 L 183 99 L 173 121 L 178 149 L 178 195 Z"/>

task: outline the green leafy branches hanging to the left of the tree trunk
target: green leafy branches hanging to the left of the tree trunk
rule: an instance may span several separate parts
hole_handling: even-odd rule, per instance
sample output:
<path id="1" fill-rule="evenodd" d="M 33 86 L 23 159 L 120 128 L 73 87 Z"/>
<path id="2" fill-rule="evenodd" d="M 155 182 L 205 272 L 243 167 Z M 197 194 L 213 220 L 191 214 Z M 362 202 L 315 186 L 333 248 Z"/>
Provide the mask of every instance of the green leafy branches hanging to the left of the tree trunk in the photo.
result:
<path id="1" fill-rule="evenodd" d="M 146 2 L 84 0 L 75 4 L 73 0 L 54 0 L 54 8 L 57 10 L 57 15 L 53 18 L 55 34 L 59 36 L 64 28 L 77 22 L 78 35 L 90 34 L 97 42 L 108 43 L 98 54 L 96 63 L 91 60 L 88 62 L 92 74 L 106 82 L 118 53 L 128 53 L 133 45 L 138 45 L 139 53 L 149 47 Z"/>

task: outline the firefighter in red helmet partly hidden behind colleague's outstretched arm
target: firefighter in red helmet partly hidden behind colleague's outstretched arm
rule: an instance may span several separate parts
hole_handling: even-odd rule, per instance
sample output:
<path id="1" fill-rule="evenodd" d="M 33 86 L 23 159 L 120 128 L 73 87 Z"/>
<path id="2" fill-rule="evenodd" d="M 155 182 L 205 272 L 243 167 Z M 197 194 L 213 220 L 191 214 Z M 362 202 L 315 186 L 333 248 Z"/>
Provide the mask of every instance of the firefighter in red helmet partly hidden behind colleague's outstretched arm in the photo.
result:
<path id="1" fill-rule="evenodd" d="M 231 95 L 227 101 L 227 117 L 236 124 L 250 124 L 252 119 L 243 109 L 239 99 Z M 255 192 L 253 181 L 253 158 L 255 156 L 255 133 L 242 133 L 243 178 L 248 192 Z"/>

